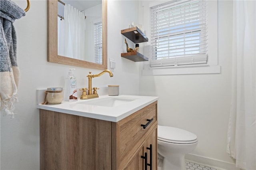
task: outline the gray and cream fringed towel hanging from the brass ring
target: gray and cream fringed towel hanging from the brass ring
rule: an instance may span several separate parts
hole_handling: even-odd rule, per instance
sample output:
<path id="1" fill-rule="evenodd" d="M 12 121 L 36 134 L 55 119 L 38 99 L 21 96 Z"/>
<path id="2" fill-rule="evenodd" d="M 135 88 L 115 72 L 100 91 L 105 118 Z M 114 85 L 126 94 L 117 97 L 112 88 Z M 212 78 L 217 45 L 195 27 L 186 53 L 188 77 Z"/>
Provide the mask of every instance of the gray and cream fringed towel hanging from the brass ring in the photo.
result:
<path id="1" fill-rule="evenodd" d="M 10 0 L 0 0 L 0 99 L 1 111 L 14 115 L 14 103 L 20 71 L 16 58 L 16 32 L 13 22 L 25 16 L 25 11 Z"/>

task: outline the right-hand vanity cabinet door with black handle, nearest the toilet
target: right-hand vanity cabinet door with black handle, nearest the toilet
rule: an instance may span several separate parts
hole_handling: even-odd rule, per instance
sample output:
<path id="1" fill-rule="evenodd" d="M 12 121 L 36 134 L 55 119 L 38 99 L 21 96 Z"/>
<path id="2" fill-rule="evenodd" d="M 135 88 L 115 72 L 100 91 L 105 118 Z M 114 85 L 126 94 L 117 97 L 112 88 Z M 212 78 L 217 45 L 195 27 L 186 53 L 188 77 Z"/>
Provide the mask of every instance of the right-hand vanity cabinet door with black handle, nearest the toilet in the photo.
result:
<path id="1" fill-rule="evenodd" d="M 147 152 L 147 161 L 150 164 L 146 170 L 157 170 L 157 125 L 144 142 L 144 152 Z"/>

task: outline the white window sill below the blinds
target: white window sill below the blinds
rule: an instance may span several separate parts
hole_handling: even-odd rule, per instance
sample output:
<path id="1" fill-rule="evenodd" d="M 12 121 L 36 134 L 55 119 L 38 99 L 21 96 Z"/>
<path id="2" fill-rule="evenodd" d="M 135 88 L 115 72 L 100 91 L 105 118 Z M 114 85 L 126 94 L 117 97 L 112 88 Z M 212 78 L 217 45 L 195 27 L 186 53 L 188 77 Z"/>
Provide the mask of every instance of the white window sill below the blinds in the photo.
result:
<path id="1" fill-rule="evenodd" d="M 220 65 L 155 67 L 142 70 L 142 75 L 182 75 L 182 74 L 214 74 L 220 73 Z"/>

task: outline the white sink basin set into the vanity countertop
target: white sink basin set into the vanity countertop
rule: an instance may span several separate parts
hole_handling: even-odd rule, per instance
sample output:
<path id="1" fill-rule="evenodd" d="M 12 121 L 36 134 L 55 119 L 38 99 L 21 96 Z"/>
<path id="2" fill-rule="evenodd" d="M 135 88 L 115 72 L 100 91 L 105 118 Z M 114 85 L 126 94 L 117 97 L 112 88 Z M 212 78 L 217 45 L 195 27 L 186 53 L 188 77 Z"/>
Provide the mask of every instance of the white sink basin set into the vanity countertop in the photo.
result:
<path id="1" fill-rule="evenodd" d="M 103 107 L 116 107 L 128 102 L 134 101 L 136 99 L 139 99 L 139 98 L 113 96 L 113 97 L 106 97 L 103 99 L 94 99 L 92 101 L 83 101 L 83 102 L 79 102 L 79 104 L 103 106 Z"/>

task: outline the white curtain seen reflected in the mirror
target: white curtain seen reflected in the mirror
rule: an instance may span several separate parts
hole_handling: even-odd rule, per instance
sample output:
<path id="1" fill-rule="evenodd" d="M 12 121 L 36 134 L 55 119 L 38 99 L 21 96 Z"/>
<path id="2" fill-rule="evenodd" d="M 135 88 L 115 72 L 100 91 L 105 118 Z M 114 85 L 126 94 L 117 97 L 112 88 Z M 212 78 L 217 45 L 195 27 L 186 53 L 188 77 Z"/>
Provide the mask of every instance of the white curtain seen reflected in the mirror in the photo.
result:
<path id="1" fill-rule="evenodd" d="M 63 34 L 58 32 L 58 54 L 84 60 L 85 58 L 85 18 L 84 14 L 71 6 L 64 7 Z M 62 24 L 62 23 L 58 23 Z M 61 32 L 61 31 L 60 31 Z M 63 44 L 60 46 L 60 44 Z"/>

